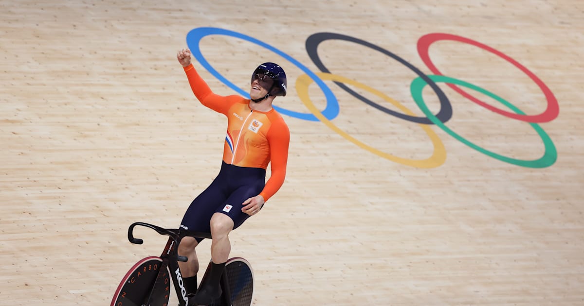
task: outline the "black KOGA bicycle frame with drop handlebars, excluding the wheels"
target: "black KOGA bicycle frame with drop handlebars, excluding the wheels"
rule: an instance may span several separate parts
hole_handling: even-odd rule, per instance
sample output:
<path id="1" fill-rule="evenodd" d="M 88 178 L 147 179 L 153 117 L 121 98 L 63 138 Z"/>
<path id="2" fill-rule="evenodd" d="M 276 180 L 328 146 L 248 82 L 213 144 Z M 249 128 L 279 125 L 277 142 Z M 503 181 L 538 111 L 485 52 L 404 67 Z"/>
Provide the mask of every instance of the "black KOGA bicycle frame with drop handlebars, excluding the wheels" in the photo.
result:
<path id="1" fill-rule="evenodd" d="M 211 234 L 197 232 L 197 231 L 189 231 L 189 230 L 162 228 L 162 227 L 158 227 L 158 226 L 155 226 L 155 225 L 149 224 L 149 223 L 135 222 L 135 223 L 131 224 L 130 227 L 128 228 L 128 240 L 133 244 L 144 243 L 144 241 L 142 239 L 134 237 L 134 227 L 135 226 L 144 226 L 144 227 L 152 228 L 152 230 L 157 231 L 158 234 L 169 236 L 168 242 L 166 242 L 166 246 L 164 247 L 164 249 L 162 250 L 162 254 L 160 255 L 160 258 L 162 259 L 161 271 L 164 271 L 166 269 L 166 266 L 168 266 L 170 268 L 169 270 L 171 271 L 171 278 L 172 278 L 172 282 L 173 282 L 174 287 L 175 287 L 176 296 L 178 297 L 178 300 L 179 300 L 179 305 L 180 306 L 187 306 L 189 300 L 187 298 L 187 292 L 186 292 L 185 286 L 183 284 L 182 275 L 180 274 L 180 268 L 178 265 L 179 261 L 186 262 L 187 258 L 186 258 L 186 256 L 179 256 L 178 255 L 177 246 L 179 245 L 180 240 L 182 240 L 183 237 L 188 236 L 188 237 L 211 239 Z M 221 289 L 223 289 L 223 303 L 224 303 L 224 305 L 231 305 L 231 293 L 229 290 L 226 274 L 227 273 L 223 273 L 223 275 L 221 276 Z M 203 279 L 204 278 L 205 277 L 203 276 Z M 152 287 L 151 294 L 154 292 L 154 289 L 157 287 L 157 284 L 159 283 L 158 282 L 159 279 L 161 279 L 161 274 L 158 275 L 157 280 L 156 280 L 154 286 Z M 201 282 L 203 282 L 203 280 L 201 280 Z M 149 297 L 149 300 L 150 300 L 150 297 Z"/>

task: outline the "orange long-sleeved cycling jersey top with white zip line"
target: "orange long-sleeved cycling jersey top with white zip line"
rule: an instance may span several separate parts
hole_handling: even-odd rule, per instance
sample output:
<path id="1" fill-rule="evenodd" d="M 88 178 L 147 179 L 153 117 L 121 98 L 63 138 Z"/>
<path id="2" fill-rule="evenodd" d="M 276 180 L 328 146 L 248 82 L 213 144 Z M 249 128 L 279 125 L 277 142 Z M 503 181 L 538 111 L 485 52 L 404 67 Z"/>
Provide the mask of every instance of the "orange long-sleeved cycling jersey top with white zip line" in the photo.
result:
<path id="1" fill-rule="evenodd" d="M 272 175 L 260 192 L 267 202 L 286 177 L 290 143 L 286 122 L 273 108 L 267 112 L 255 111 L 249 107 L 249 99 L 214 94 L 193 65 L 186 66 L 185 72 L 190 88 L 201 104 L 227 116 L 223 161 L 234 166 L 263 169 L 271 163 Z"/>

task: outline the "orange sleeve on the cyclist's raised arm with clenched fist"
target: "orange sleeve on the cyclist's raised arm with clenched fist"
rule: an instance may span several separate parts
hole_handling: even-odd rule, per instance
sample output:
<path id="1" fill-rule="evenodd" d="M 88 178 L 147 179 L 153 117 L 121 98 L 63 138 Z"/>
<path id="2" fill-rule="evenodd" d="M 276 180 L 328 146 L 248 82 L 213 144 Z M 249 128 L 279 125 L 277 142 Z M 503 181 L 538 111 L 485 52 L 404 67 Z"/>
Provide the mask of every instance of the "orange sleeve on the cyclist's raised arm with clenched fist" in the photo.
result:
<path id="1" fill-rule="evenodd" d="M 227 111 L 232 104 L 229 103 L 228 97 L 219 96 L 218 94 L 211 92 L 207 83 L 194 69 L 193 64 L 184 67 L 184 69 L 186 76 L 189 79 L 190 89 L 193 90 L 194 96 L 199 99 L 201 104 L 211 108 L 211 110 L 227 115 Z"/>

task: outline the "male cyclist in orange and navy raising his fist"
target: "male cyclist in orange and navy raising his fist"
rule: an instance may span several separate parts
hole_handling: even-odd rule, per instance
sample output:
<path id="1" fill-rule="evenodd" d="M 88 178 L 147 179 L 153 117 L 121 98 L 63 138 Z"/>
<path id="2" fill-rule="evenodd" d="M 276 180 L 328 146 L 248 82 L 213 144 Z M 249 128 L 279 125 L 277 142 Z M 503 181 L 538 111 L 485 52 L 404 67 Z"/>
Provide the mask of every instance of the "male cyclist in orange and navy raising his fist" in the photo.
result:
<path id="1" fill-rule="evenodd" d="M 198 292 L 199 261 L 195 247 L 202 239 L 185 237 L 178 247 L 179 255 L 189 258 L 179 262 L 190 293 L 189 305 L 208 305 L 221 296 L 219 282 L 231 251 L 229 233 L 258 213 L 286 177 L 290 131 L 272 107 L 276 96 L 286 96 L 286 73 L 279 65 L 266 62 L 252 73 L 251 99 L 219 96 L 211 92 L 194 69 L 189 49 L 178 51 L 176 58 L 185 70 L 194 96 L 228 119 L 219 174 L 193 200 L 180 224 L 185 230 L 210 232 L 213 237 L 208 282 L 203 282 Z M 266 182 L 268 164 L 272 174 Z"/>

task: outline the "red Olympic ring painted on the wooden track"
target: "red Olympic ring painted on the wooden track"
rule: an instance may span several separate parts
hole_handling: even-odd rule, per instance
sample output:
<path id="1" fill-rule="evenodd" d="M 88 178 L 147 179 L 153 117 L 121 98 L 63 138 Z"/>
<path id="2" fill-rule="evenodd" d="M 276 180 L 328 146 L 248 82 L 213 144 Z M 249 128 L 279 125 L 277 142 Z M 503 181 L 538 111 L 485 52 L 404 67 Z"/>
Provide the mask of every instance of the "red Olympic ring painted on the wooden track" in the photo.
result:
<path id="1" fill-rule="evenodd" d="M 424 62 L 424 64 L 426 64 L 426 66 L 428 66 L 428 68 L 430 68 L 430 71 L 432 71 L 436 75 L 442 75 L 442 73 L 440 73 L 440 71 L 436 68 L 436 66 L 434 66 L 434 64 L 430 60 L 428 50 L 429 50 L 431 44 L 433 44 L 434 42 L 439 41 L 439 40 L 454 40 L 454 41 L 459 41 L 461 43 L 471 44 L 471 45 L 479 47 L 485 51 L 489 51 L 493 54 L 496 54 L 499 57 L 505 59 L 507 62 L 510 62 L 511 64 L 515 65 L 517 68 L 521 69 L 521 71 L 523 71 L 527 76 L 529 76 L 529 78 L 531 78 L 531 80 L 533 80 L 533 82 L 536 82 L 537 86 L 539 86 L 540 89 L 543 91 L 545 98 L 547 99 L 548 105 L 547 105 L 547 108 L 545 109 L 545 111 L 539 115 L 526 115 L 524 113 L 513 114 L 512 112 L 501 110 L 499 108 L 493 107 L 492 105 L 486 104 L 485 102 L 483 102 L 481 100 L 478 100 L 477 98 L 466 93 L 464 90 L 460 89 L 456 85 L 453 85 L 450 83 L 447 84 L 452 89 L 456 90 L 456 92 L 462 94 L 465 98 L 473 101 L 474 103 L 481 105 L 482 107 L 488 108 L 489 110 L 494 111 L 498 114 L 501 114 L 501 115 L 509 117 L 509 118 L 521 120 L 521 121 L 541 123 L 541 122 L 552 121 L 553 119 L 558 117 L 558 113 L 559 113 L 558 100 L 555 99 L 554 94 L 545 85 L 545 83 L 542 80 L 540 80 L 540 78 L 538 78 L 536 75 L 534 75 L 533 72 L 529 71 L 529 69 L 525 68 L 523 65 L 521 65 L 517 61 L 515 61 L 515 59 L 510 58 L 509 56 L 503 54 L 502 52 L 500 52 L 498 50 L 495 50 L 495 49 L 489 47 L 488 45 L 481 44 L 478 41 L 474 41 L 474 40 L 471 40 L 469 38 L 465 38 L 465 37 L 461 37 L 461 36 L 456 36 L 456 35 L 451 35 L 451 34 L 443 34 L 443 33 L 426 34 L 425 36 L 420 37 L 420 39 L 418 40 L 418 53 L 419 53 L 420 57 L 422 58 L 422 61 Z"/>

